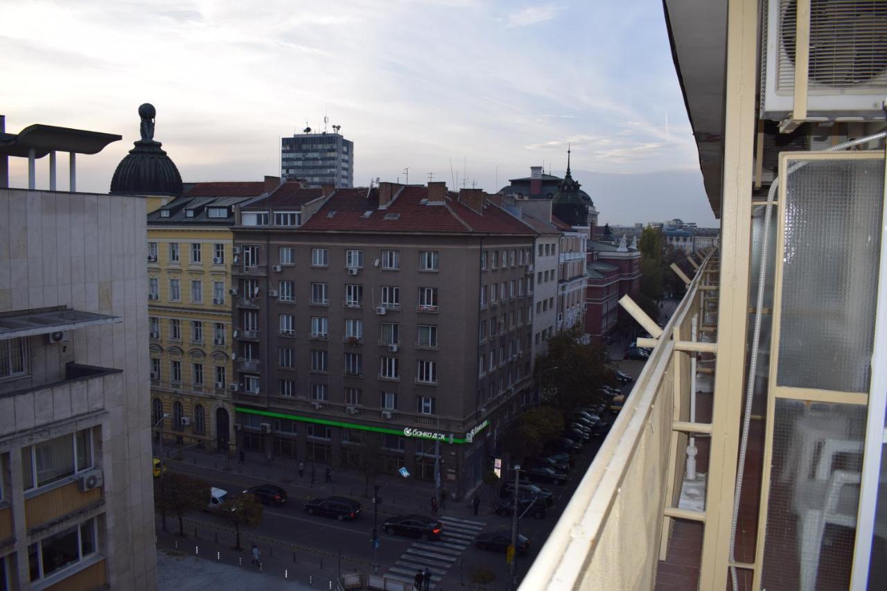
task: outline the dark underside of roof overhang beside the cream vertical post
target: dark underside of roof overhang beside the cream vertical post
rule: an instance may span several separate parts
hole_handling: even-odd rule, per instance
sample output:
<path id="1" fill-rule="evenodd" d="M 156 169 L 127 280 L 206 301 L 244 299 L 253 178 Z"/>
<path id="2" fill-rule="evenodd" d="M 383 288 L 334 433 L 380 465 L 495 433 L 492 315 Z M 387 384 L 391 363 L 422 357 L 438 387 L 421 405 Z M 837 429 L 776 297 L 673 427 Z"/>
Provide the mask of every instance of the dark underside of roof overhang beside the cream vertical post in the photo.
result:
<path id="1" fill-rule="evenodd" d="M 720 218 L 726 106 L 727 0 L 663 0 L 671 57 L 693 128 L 711 210 Z"/>

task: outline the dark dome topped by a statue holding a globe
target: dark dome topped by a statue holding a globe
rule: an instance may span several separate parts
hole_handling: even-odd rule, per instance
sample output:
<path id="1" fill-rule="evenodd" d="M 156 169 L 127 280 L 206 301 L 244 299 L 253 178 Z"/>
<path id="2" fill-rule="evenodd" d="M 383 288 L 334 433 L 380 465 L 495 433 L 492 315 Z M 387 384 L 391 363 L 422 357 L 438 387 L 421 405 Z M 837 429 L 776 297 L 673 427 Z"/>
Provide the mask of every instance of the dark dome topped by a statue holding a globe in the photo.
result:
<path id="1" fill-rule="evenodd" d="M 127 154 L 111 178 L 111 193 L 124 195 L 171 195 L 182 194 L 182 176 L 176 163 L 161 149 L 161 142 L 154 141 L 153 105 L 138 107 L 141 117 L 141 139 L 133 142 Z"/>

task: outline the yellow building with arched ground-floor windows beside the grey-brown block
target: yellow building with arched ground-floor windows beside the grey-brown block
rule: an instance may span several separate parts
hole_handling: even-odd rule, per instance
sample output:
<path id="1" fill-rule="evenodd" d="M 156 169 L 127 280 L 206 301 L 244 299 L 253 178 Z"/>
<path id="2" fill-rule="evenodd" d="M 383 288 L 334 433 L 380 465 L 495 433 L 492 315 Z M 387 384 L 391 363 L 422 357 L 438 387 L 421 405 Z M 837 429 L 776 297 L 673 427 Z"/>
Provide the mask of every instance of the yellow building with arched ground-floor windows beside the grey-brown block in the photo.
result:
<path id="1" fill-rule="evenodd" d="M 234 206 L 270 193 L 258 182 L 194 183 L 154 198 L 148 214 L 148 326 L 154 437 L 205 448 L 234 441 L 232 302 Z"/>

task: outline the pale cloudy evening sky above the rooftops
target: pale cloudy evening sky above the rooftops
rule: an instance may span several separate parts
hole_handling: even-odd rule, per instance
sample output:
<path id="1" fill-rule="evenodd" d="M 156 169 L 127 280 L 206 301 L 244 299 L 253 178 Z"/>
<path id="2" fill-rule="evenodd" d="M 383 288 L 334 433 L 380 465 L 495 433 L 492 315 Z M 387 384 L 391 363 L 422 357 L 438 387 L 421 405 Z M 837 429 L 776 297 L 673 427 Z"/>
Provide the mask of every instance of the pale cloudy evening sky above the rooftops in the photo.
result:
<path id="1" fill-rule="evenodd" d="M 411 183 L 495 192 L 534 165 L 562 176 L 569 145 L 601 225 L 717 225 L 661 0 L 0 0 L 0 14 L 7 132 L 123 136 L 78 159 L 80 191 L 108 190 L 150 102 L 185 182 L 277 175 L 280 138 L 326 114 L 355 143 L 355 185 L 408 167 Z M 27 185 L 27 161 L 10 169 Z"/>

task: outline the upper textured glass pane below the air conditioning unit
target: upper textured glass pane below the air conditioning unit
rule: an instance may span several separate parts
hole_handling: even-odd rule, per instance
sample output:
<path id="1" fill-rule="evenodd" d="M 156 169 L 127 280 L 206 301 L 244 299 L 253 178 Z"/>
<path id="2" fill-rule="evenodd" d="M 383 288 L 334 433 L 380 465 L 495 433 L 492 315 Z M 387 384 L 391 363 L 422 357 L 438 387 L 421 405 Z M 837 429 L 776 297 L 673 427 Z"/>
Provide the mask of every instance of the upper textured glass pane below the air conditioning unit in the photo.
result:
<path id="1" fill-rule="evenodd" d="M 868 390 L 883 174 L 883 160 L 821 161 L 788 177 L 781 386 Z"/>

